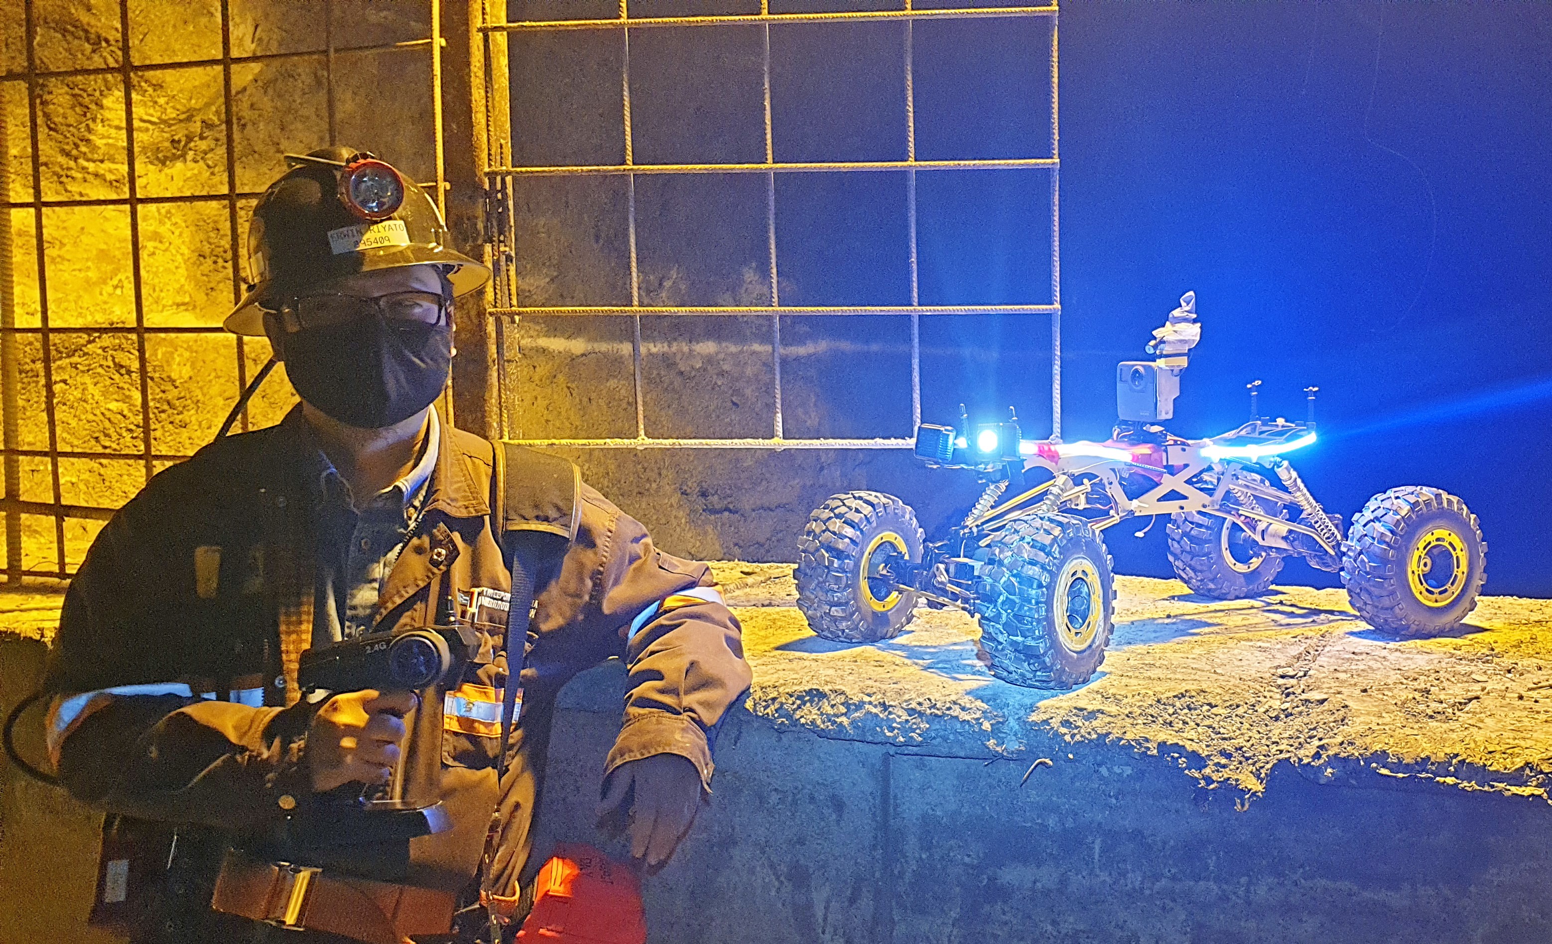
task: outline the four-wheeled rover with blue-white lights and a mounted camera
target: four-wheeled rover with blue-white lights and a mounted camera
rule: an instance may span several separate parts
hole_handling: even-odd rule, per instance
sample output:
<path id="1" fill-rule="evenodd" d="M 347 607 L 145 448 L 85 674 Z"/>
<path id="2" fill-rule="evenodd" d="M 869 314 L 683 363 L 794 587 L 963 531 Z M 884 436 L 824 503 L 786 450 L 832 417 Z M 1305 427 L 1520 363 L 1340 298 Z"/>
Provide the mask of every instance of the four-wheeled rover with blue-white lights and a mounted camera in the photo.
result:
<path id="1" fill-rule="evenodd" d="M 1155 331 L 1152 362 L 1117 368 L 1119 424 L 1105 442 L 1021 439 L 1017 418 L 923 424 L 916 455 L 975 469 L 979 500 L 931 540 L 911 508 L 882 492 L 830 497 L 799 542 L 798 606 L 827 640 L 897 635 L 917 604 L 979 618 L 992 674 L 1032 688 L 1088 682 L 1105 658 L 1114 581 L 1103 531 L 1169 515 L 1169 559 L 1193 592 L 1265 592 L 1287 557 L 1339 573 L 1352 607 L 1392 635 L 1459 624 L 1476 606 L 1487 543 L 1465 503 L 1436 488 L 1381 492 L 1342 531 L 1285 453 L 1316 441 L 1304 422 L 1251 419 L 1211 439 L 1170 435 L 1186 352 L 1200 338 L 1187 293 Z M 962 411 L 961 411 L 962 413 Z M 1152 522 L 1150 522 L 1152 526 Z"/>

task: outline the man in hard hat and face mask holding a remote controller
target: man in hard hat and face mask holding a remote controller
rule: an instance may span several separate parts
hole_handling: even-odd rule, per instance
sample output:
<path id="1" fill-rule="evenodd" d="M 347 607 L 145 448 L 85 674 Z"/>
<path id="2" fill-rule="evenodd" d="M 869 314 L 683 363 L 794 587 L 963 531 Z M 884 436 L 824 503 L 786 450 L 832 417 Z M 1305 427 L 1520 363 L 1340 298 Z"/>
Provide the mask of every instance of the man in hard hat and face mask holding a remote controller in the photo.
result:
<path id="1" fill-rule="evenodd" d="M 489 272 L 430 197 L 349 148 L 287 160 L 227 328 L 268 337 L 301 404 L 102 528 L 51 654 L 50 750 L 110 814 L 96 914 L 135 941 L 494 944 L 560 686 L 624 660 L 599 812 L 656 865 L 750 683 L 739 624 L 574 466 L 438 416 L 453 300 Z"/>

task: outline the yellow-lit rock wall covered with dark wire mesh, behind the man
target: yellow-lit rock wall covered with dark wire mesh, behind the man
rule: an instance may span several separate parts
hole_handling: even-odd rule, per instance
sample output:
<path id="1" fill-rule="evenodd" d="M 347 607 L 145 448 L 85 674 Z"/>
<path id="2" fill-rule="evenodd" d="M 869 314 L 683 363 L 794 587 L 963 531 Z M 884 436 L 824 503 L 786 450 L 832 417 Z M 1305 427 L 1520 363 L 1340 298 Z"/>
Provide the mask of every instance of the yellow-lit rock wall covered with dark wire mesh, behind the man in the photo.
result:
<path id="1" fill-rule="evenodd" d="M 244 289 L 247 210 L 282 149 L 371 146 L 338 95 L 376 75 L 376 57 L 396 57 L 396 73 L 397 57 L 428 61 L 435 166 L 421 169 L 442 199 L 438 0 L 414 3 L 417 36 L 390 36 L 352 0 L 259 6 L 23 3 L 0 64 L 8 582 L 68 578 L 115 508 L 188 458 L 268 357 L 220 328 Z M 265 101 L 237 93 L 258 78 Z M 287 402 L 250 407 L 251 422 Z"/>

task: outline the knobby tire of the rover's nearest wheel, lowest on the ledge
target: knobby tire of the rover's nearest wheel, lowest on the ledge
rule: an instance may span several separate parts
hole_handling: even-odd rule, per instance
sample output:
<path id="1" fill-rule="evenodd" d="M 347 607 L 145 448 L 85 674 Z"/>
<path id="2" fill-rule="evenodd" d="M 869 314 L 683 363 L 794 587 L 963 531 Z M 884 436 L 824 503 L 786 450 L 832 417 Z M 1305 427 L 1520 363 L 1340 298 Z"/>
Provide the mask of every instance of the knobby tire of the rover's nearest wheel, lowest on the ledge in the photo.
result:
<path id="1" fill-rule="evenodd" d="M 1094 677 L 1105 661 L 1114 613 L 1110 553 L 1088 522 L 1054 514 L 1009 522 L 987 543 L 976 581 L 981 652 L 992 674 L 1026 688 L 1068 689 Z M 1080 652 L 1058 637 L 1049 595 L 1062 570 L 1085 556 L 1099 574 L 1100 626 Z"/>

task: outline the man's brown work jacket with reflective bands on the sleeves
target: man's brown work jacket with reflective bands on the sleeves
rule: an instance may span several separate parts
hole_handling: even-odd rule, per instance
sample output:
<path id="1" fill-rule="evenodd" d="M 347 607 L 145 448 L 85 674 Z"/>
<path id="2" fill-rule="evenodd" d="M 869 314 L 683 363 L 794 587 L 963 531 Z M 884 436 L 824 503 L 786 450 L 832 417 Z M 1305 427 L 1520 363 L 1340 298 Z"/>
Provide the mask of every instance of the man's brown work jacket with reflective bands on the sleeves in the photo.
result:
<path id="1" fill-rule="evenodd" d="M 310 710 L 296 699 L 296 660 L 312 641 L 315 565 L 298 472 L 306 463 L 295 461 L 303 424 L 298 410 L 205 447 L 157 475 L 98 536 L 65 598 L 47 677 L 61 692 L 50 742 L 76 796 L 237 837 L 273 832 L 306 810 L 300 761 Z M 509 587 L 490 529 L 492 458 L 489 442 L 442 424 L 425 511 L 383 584 L 374 632 L 445 624 L 459 595 Z M 521 492 L 517 481 L 508 494 Z M 750 683 L 737 620 L 714 593 L 683 593 L 711 584 L 705 565 L 658 551 L 587 486 L 577 514 L 563 560 L 539 579 L 506 781 L 497 784 L 497 731 L 450 728 L 441 697 L 411 717 L 411 762 L 444 728 L 441 796 L 453 829 L 413 840 L 396 879 L 466 887 L 494 809 L 490 868 L 515 876 L 549 705 L 568 678 L 611 655 L 629 666 L 632 688 L 607 770 L 674 753 L 709 789 L 708 734 Z M 442 686 L 501 685 L 503 649 L 490 632 L 483 658 Z"/>

